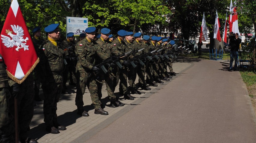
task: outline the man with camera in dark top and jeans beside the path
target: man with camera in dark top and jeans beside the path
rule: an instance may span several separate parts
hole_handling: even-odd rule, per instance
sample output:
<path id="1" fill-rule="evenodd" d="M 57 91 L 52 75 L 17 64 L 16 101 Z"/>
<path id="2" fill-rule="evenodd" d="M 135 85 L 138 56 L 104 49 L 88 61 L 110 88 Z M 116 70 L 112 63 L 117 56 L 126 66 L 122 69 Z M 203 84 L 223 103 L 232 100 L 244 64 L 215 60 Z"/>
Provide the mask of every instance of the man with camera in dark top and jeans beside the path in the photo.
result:
<path id="1" fill-rule="evenodd" d="M 238 49 L 242 39 L 239 38 L 238 33 L 234 34 L 233 32 L 231 32 L 228 37 L 229 37 L 229 45 L 230 45 L 230 66 L 228 71 L 232 70 L 232 64 L 233 64 L 234 58 L 235 58 L 235 65 L 233 70 L 235 71 L 237 67 Z"/>

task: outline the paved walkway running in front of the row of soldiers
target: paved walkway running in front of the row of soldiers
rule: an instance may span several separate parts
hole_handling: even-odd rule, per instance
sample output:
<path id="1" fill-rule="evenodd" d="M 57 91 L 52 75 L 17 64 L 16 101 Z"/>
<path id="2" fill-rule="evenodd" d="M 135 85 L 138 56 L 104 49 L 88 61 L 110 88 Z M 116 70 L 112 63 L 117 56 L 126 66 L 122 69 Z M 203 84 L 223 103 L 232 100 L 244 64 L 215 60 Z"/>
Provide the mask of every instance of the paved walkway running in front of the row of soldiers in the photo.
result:
<path id="1" fill-rule="evenodd" d="M 59 123 L 67 130 L 47 133 L 43 102 L 37 102 L 30 137 L 38 142 L 256 142 L 255 115 L 240 73 L 228 72 L 219 61 L 185 59 L 175 62 L 179 73 L 135 100 L 122 100 L 123 107 L 94 114 L 89 91 L 84 108 L 89 117 L 76 114 L 75 90 L 58 103 Z M 118 89 L 116 89 L 118 91 Z M 102 91 L 103 102 L 107 93 Z M 118 95 L 118 93 L 117 93 Z"/>

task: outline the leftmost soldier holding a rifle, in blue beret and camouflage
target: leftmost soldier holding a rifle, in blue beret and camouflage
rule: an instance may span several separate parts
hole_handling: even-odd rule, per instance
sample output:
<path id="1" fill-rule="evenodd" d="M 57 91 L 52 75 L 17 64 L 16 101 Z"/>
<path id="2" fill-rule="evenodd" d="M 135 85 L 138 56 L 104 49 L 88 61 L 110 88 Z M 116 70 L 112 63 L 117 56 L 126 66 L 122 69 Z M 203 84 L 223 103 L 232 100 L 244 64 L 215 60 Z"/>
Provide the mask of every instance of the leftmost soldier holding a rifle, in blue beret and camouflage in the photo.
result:
<path id="1" fill-rule="evenodd" d="M 108 115 L 108 112 L 101 108 L 101 102 L 98 95 L 96 79 L 99 76 L 100 69 L 94 66 L 95 54 L 102 57 L 102 59 L 106 59 L 108 56 L 103 55 L 102 53 L 96 53 L 95 49 L 98 44 L 93 41 L 95 37 L 95 30 L 95 27 L 86 28 L 86 38 L 79 41 L 75 46 L 75 53 L 78 56 L 78 63 L 76 65 L 77 92 L 75 104 L 78 109 L 77 114 L 81 116 L 89 116 L 83 107 L 83 95 L 86 85 L 89 87 L 91 99 L 95 108 L 94 113 Z"/>

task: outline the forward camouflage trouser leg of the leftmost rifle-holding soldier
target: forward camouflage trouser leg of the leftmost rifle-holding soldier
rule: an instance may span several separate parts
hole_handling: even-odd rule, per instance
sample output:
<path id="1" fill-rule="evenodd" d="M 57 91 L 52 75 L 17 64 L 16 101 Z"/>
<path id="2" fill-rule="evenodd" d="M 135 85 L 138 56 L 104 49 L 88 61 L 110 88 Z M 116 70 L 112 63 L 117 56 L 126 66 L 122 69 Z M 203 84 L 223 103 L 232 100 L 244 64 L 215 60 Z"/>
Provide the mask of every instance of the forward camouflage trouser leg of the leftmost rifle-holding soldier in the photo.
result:
<path id="1" fill-rule="evenodd" d="M 94 105 L 95 109 L 99 109 L 101 102 L 99 101 L 99 95 L 98 95 L 98 87 L 97 87 L 97 83 L 96 80 L 94 79 L 89 79 L 90 83 L 89 83 L 89 91 L 91 94 L 91 99 Z"/>

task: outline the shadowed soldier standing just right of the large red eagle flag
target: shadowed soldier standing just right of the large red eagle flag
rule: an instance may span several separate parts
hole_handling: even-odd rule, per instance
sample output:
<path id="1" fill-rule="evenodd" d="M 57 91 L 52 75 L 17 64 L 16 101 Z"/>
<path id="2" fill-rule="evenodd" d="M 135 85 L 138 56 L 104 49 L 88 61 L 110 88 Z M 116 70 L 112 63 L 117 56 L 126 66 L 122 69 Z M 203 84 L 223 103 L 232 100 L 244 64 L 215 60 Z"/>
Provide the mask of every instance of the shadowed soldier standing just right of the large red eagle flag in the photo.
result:
<path id="1" fill-rule="evenodd" d="M 40 58 L 39 55 L 39 47 L 40 45 L 44 42 L 41 39 L 41 28 L 40 27 L 35 27 L 32 30 L 32 33 L 34 34 L 34 37 L 32 37 L 32 42 L 33 45 L 35 47 L 35 52 L 37 54 L 37 56 Z M 35 85 L 34 85 L 34 90 L 35 90 L 35 101 L 42 101 L 42 99 L 39 97 L 39 88 L 40 88 L 40 71 L 38 71 L 38 66 L 37 65 L 34 69 L 34 73 L 35 73 Z"/>

